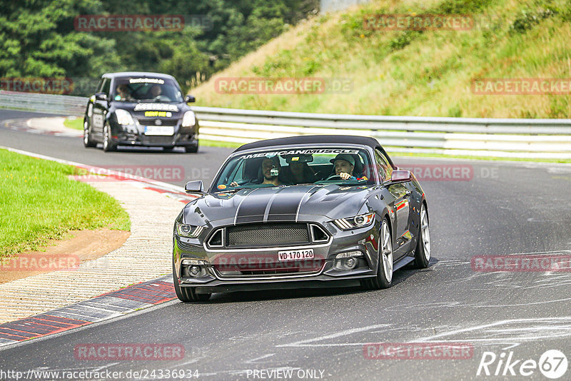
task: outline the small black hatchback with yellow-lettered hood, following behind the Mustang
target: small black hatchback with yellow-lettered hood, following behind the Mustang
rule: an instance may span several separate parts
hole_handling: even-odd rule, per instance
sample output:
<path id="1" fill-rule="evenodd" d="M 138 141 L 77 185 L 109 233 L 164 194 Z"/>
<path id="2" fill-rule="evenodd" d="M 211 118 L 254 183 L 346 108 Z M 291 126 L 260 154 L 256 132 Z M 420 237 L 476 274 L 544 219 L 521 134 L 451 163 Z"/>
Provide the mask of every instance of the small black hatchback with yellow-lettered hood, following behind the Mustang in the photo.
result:
<path id="1" fill-rule="evenodd" d="M 84 146 L 183 147 L 198 151 L 198 121 L 173 76 L 161 73 L 106 73 L 89 98 L 84 117 Z"/>

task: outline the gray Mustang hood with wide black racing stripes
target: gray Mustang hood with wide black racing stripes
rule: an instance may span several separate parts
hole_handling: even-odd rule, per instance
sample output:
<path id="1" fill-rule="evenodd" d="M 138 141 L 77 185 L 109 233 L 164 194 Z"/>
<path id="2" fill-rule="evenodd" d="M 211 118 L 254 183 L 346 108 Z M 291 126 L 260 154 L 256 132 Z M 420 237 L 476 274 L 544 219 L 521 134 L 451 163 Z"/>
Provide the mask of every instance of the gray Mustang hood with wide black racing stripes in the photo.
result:
<path id="1" fill-rule="evenodd" d="M 186 205 L 184 223 L 220 225 L 348 217 L 358 213 L 370 186 L 278 186 L 205 195 Z M 361 197 L 355 197 L 360 194 Z"/>

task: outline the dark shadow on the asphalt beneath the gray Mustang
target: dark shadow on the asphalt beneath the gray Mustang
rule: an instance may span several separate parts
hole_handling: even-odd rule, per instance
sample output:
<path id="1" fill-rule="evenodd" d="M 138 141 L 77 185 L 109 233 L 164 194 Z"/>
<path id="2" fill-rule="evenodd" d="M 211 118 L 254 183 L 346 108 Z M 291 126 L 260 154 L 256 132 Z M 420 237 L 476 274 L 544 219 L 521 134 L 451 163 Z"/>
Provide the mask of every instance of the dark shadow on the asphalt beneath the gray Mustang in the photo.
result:
<path id="1" fill-rule="evenodd" d="M 411 276 L 431 271 L 431 268 L 438 263 L 438 259 L 430 258 L 428 268 L 416 269 L 409 266 L 400 268 L 393 275 L 393 285 L 389 290 L 398 290 L 398 285 L 405 282 Z M 386 291 L 386 290 L 384 290 Z M 193 304 L 223 304 L 223 303 L 241 303 L 241 302 L 255 302 L 263 300 L 284 300 L 284 299 L 299 299 L 299 298 L 321 298 L 325 296 L 343 296 L 343 295 L 358 295 L 367 293 L 382 293 L 383 290 L 365 290 L 356 285 L 353 287 L 323 287 L 323 288 L 299 288 L 295 290 L 260 290 L 260 291 L 236 291 L 233 293 L 216 293 L 213 294 L 211 299 L 203 303 Z"/>

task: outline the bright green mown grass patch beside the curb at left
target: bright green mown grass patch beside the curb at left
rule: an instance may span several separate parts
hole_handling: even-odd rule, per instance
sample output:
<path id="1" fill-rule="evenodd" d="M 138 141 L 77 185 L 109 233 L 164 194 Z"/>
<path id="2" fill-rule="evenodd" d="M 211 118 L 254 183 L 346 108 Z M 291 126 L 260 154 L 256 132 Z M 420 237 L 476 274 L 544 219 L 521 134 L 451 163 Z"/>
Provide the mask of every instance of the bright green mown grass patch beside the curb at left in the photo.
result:
<path id="1" fill-rule="evenodd" d="M 117 200 L 67 177 L 76 171 L 0 149 L 0 258 L 38 250 L 69 230 L 131 230 Z"/>

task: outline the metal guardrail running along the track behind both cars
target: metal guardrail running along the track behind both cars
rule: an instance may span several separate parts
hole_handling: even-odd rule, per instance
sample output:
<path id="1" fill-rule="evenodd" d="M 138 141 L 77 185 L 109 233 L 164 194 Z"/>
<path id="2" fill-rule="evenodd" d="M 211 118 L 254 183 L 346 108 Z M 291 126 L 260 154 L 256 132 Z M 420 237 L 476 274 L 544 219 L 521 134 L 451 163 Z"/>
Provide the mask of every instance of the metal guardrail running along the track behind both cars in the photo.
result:
<path id="1" fill-rule="evenodd" d="M 87 98 L 0 91 L 0 107 L 81 116 Z M 249 143 L 294 135 L 378 138 L 388 151 L 571 158 L 571 119 L 438 118 L 291 113 L 194 106 L 201 138 Z"/>

